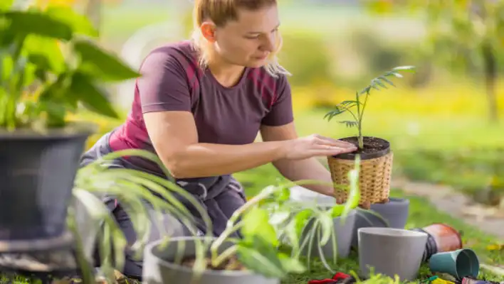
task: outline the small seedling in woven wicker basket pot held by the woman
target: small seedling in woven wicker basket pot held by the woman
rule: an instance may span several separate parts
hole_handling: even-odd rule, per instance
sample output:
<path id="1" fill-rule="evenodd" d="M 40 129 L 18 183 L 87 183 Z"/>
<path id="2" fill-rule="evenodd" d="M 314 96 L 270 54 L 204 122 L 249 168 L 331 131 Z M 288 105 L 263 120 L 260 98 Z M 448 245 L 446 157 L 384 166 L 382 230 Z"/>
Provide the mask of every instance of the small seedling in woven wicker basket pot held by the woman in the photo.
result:
<path id="1" fill-rule="evenodd" d="M 348 127 L 357 128 L 357 135 L 347 138 L 340 138 L 357 146 L 357 151 L 327 157 L 327 162 L 332 175 L 332 181 L 338 185 L 348 183 L 347 173 L 354 168 L 355 155 L 362 158 L 362 165 L 359 172 L 359 189 L 361 199 L 359 206 L 369 209 L 371 204 L 384 203 L 389 200 L 390 180 L 392 178 L 393 153 L 389 141 L 362 134 L 362 118 L 367 106 L 367 100 L 373 89 L 380 90 L 387 88 L 387 84 L 395 86 L 391 77 L 402 77 L 401 71 L 412 71 L 414 67 L 395 67 L 389 72 L 371 80 L 369 86 L 355 93 L 355 99 L 346 100 L 337 104 L 335 109 L 325 114 L 324 118 L 330 121 L 335 116 L 349 113 L 351 120 L 340 121 Z M 338 202 L 347 200 L 348 192 L 335 187 L 335 198 Z"/>

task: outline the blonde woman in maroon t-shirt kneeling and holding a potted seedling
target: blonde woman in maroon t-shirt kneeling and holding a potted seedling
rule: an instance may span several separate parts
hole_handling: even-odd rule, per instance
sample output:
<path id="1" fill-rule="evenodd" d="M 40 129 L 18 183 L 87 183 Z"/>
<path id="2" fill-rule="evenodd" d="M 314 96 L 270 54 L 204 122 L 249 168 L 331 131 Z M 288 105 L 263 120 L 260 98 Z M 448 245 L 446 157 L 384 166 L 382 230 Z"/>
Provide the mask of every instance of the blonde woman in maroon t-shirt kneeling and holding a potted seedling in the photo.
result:
<path id="1" fill-rule="evenodd" d="M 233 173 L 273 163 L 289 180 L 332 182 L 315 157 L 356 148 L 332 138 L 296 134 L 288 73 L 276 58 L 279 24 L 275 0 L 196 0 L 192 40 L 147 55 L 130 115 L 85 153 L 83 165 L 127 148 L 157 153 L 177 184 L 206 207 L 215 235 L 246 202 Z M 262 142 L 254 142 L 258 132 Z M 118 160 L 114 166 L 164 176 L 157 165 L 141 159 Z M 307 187 L 332 196 L 329 185 Z M 105 202 L 133 243 L 127 214 L 117 202 Z M 166 223 L 180 226 L 169 216 Z M 151 240 L 157 238 L 154 232 Z M 141 275 L 141 268 L 142 263 L 128 256 L 124 273 Z"/>

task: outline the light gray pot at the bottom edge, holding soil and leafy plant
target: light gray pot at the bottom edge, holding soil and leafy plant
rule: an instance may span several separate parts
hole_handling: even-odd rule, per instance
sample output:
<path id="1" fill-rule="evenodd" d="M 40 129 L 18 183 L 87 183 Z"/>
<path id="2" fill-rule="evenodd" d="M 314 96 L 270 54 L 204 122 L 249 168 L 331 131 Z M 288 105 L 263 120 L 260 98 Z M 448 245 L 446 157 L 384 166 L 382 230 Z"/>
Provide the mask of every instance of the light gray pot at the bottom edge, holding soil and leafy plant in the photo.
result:
<path id="1" fill-rule="evenodd" d="M 194 256 L 194 240 L 204 237 L 182 236 L 169 239 L 167 246 L 161 248 L 162 240 L 154 241 L 145 246 L 142 283 L 166 284 L 280 284 L 279 279 L 265 278 L 263 275 L 247 271 L 204 271 L 197 281 L 191 268 L 174 263 L 177 249 L 184 249 L 184 257 Z M 184 246 L 178 246 L 184 241 Z M 231 244 L 221 245 L 219 253 L 229 248 Z"/>

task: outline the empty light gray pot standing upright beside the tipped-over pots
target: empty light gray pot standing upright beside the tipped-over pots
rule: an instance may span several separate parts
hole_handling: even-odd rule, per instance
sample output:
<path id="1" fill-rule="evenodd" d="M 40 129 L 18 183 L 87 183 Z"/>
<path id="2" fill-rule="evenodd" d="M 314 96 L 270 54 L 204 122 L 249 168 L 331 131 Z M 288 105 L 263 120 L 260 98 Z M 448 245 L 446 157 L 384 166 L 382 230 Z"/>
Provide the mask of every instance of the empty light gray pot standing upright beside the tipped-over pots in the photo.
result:
<path id="1" fill-rule="evenodd" d="M 360 228 L 359 268 L 363 278 L 369 273 L 414 280 L 419 273 L 428 235 L 419 231 L 392 228 Z"/>

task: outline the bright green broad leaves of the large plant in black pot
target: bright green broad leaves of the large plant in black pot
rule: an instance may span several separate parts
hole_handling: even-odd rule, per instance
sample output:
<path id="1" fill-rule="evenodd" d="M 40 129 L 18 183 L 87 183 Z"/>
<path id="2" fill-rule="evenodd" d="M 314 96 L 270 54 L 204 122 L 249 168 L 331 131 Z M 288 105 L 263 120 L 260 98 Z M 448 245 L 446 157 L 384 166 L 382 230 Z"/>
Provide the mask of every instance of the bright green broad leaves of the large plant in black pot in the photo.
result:
<path id="1" fill-rule="evenodd" d="M 117 118 L 101 84 L 140 75 L 89 39 L 97 32 L 88 18 L 9 2 L 0 6 L 0 128 L 63 127 L 80 105 Z"/>

